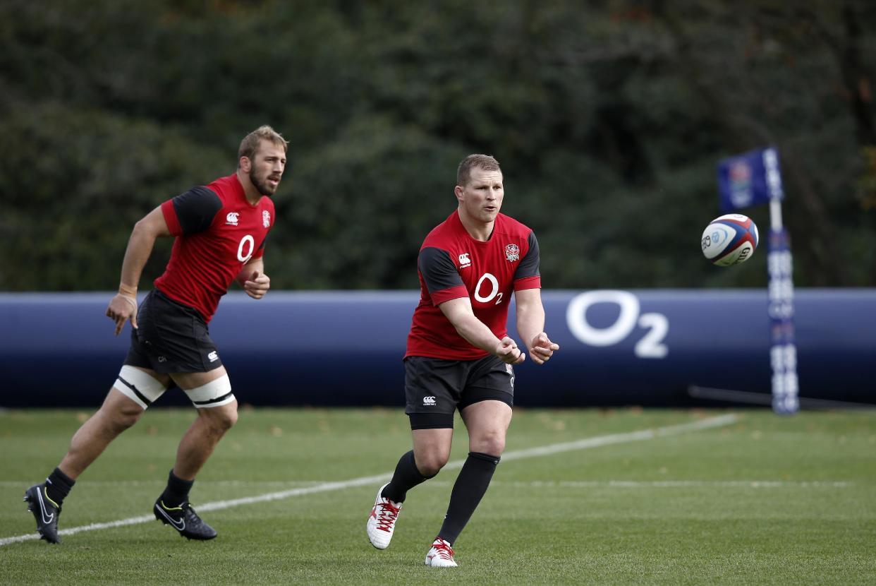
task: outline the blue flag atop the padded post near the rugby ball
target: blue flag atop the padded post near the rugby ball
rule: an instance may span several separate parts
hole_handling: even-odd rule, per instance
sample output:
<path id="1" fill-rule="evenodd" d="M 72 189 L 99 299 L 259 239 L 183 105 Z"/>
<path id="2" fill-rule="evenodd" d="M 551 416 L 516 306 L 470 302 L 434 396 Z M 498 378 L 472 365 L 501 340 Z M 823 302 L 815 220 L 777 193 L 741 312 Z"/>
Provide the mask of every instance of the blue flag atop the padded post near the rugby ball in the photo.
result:
<path id="1" fill-rule="evenodd" d="M 770 146 L 722 159 L 717 187 L 723 213 L 783 199 L 779 155 Z"/>

